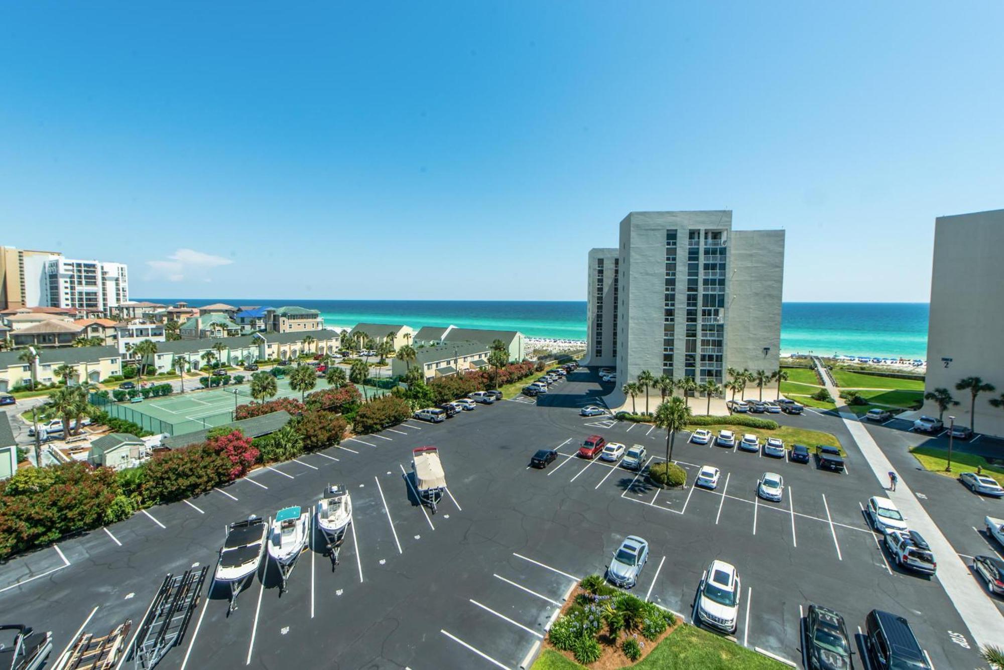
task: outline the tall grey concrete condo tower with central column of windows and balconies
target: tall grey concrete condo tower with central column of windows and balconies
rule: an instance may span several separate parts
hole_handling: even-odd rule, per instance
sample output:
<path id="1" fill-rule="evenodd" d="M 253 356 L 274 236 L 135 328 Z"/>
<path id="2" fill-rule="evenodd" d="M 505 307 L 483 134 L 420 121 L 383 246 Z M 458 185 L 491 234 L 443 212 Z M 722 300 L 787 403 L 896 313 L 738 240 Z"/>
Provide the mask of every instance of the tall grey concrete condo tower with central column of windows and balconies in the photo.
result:
<path id="1" fill-rule="evenodd" d="M 588 261 L 588 363 L 702 383 L 772 372 L 781 340 L 784 231 L 734 231 L 732 212 L 632 212 Z"/>

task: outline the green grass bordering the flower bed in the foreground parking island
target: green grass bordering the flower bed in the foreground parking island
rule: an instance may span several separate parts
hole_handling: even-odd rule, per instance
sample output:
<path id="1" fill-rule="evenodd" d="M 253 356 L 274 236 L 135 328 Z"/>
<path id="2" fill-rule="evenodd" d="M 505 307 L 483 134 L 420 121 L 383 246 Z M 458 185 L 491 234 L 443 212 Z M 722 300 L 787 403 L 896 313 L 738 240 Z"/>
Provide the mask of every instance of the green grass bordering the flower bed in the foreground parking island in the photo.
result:
<path id="1" fill-rule="evenodd" d="M 638 670 L 781 670 L 787 666 L 714 633 L 681 625 L 641 662 Z M 551 649 L 545 649 L 531 670 L 582 670 Z"/>

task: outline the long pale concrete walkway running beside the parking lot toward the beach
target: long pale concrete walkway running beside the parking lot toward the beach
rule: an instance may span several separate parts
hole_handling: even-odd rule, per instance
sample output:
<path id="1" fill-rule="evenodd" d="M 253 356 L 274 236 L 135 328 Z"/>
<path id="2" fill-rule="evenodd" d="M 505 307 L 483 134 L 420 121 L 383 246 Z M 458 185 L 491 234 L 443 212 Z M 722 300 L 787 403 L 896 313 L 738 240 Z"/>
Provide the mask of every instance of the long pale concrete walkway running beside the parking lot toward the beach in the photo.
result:
<path id="1" fill-rule="evenodd" d="M 820 376 L 826 381 L 826 390 L 834 398 L 838 398 L 839 391 L 822 368 L 822 362 L 818 358 L 813 358 L 813 362 Z M 850 436 L 868 461 L 871 472 L 883 487 L 889 486 L 889 473 L 896 472 L 893 463 L 878 448 L 867 428 L 861 425 L 853 412 L 840 411 L 841 408 L 846 409 L 844 405 L 837 404 L 837 411 Z M 990 601 L 979 582 L 970 574 L 969 568 L 917 499 L 910 485 L 899 472 L 896 474 L 899 478 L 896 490 L 887 491 L 887 494 L 909 521 L 910 528 L 924 536 L 931 545 L 935 560 L 938 561 L 938 581 L 945 588 L 945 593 L 952 600 L 959 616 L 966 622 L 977 644 L 981 647 L 999 645 L 1001 640 L 1004 640 L 1004 616 Z"/>

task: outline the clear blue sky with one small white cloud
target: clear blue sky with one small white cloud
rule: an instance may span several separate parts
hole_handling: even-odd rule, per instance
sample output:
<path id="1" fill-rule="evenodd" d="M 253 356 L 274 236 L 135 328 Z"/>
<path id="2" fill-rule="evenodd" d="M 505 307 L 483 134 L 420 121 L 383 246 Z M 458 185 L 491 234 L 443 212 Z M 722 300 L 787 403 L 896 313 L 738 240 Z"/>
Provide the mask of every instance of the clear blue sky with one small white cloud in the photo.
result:
<path id="1" fill-rule="evenodd" d="M 135 296 L 585 299 L 632 210 L 926 301 L 1004 207 L 1004 5 L 4 3 L 0 244 Z M 485 275 L 487 279 L 485 281 Z"/>

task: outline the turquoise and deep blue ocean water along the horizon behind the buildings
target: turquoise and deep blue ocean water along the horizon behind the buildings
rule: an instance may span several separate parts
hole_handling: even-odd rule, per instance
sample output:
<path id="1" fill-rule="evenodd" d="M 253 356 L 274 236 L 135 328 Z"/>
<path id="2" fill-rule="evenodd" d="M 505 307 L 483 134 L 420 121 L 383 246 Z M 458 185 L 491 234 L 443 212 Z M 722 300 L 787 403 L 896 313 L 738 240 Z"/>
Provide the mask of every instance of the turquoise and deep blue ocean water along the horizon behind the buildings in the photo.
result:
<path id="1" fill-rule="evenodd" d="M 150 298 L 162 303 L 176 299 Z M 584 301 L 492 300 L 188 300 L 193 306 L 299 305 L 320 311 L 328 326 L 403 323 L 413 328 L 453 324 L 519 330 L 529 337 L 585 339 Z M 927 303 L 784 303 L 781 353 L 926 358 Z"/>

